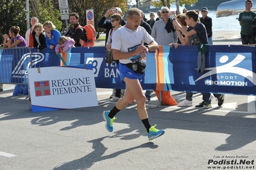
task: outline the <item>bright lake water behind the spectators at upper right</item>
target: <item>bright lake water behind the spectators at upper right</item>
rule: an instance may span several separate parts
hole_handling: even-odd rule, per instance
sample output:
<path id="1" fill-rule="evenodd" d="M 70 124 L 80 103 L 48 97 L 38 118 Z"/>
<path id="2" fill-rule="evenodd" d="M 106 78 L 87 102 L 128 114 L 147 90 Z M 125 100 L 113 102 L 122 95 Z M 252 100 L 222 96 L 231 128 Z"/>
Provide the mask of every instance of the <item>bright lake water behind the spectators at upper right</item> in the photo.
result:
<path id="1" fill-rule="evenodd" d="M 155 16 L 157 16 L 157 13 L 155 13 Z M 212 18 L 212 30 L 214 31 L 240 31 L 241 30 L 239 21 L 236 19 L 238 15 L 216 18 L 216 11 L 209 11 L 208 16 Z M 149 13 L 145 13 L 145 17 L 147 19 L 150 19 Z M 155 17 L 155 19 L 156 18 L 157 17 Z"/>

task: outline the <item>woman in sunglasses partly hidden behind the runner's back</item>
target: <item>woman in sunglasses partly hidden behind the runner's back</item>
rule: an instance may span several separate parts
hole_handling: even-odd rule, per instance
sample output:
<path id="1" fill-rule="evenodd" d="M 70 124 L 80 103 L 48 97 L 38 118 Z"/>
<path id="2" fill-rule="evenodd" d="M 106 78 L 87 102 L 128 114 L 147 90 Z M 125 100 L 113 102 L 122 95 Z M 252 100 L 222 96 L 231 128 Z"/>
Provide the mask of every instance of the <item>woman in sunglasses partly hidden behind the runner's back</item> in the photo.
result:
<path id="1" fill-rule="evenodd" d="M 119 29 L 119 27 L 121 27 L 121 23 L 122 23 L 122 17 L 119 13 L 114 13 L 111 17 L 110 17 L 110 22 L 113 26 L 113 31 L 109 31 L 109 35 L 108 35 L 108 40 L 106 43 L 106 48 L 108 51 L 111 50 L 111 46 L 112 46 L 112 36 L 114 34 L 114 32 Z M 118 65 L 119 62 L 117 62 Z M 113 98 L 111 98 L 112 101 L 118 101 L 121 98 L 121 89 L 115 89 L 115 96 Z"/>

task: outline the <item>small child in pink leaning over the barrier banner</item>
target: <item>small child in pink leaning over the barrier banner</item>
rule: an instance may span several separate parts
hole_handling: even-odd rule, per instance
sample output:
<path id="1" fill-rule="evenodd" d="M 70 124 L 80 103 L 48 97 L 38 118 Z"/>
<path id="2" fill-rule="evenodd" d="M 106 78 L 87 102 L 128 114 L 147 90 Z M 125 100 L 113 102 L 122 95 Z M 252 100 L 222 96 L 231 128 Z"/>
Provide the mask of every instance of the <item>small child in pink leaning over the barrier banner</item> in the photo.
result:
<path id="1" fill-rule="evenodd" d="M 70 47 L 74 47 L 73 38 L 69 38 L 67 36 L 60 36 L 60 38 L 58 39 L 58 44 L 55 47 L 55 52 L 58 55 L 60 53 L 60 49 L 62 49 L 62 52 L 67 52 Z"/>

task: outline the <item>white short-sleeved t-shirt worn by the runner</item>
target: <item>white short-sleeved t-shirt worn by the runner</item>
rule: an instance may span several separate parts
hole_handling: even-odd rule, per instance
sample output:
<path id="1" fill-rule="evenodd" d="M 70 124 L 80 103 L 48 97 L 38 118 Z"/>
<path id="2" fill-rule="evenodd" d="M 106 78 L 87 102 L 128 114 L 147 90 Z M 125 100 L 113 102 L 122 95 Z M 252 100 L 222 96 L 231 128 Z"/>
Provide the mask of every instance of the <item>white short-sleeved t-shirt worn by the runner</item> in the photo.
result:
<path id="1" fill-rule="evenodd" d="M 112 35 L 112 49 L 121 50 L 121 52 L 130 52 L 139 45 L 143 45 L 144 42 L 150 43 L 154 40 L 152 36 L 148 34 L 144 27 L 137 27 L 136 31 L 128 29 L 125 26 L 119 27 Z M 140 55 L 133 56 L 126 59 L 119 59 L 120 63 L 127 64 L 141 59 Z"/>

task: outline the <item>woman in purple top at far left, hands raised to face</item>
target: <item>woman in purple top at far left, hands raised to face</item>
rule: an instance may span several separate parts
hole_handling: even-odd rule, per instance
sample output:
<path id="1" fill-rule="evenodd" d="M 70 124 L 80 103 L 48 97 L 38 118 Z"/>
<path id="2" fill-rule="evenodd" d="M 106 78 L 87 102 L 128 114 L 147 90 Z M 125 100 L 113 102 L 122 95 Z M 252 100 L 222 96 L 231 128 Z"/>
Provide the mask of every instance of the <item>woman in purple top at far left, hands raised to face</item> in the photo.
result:
<path id="1" fill-rule="evenodd" d="M 9 30 L 9 35 L 5 34 L 3 35 L 4 43 L 3 47 L 26 47 L 27 43 L 26 40 L 19 35 L 19 26 L 12 26 Z"/>

